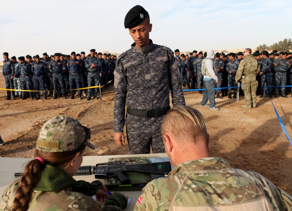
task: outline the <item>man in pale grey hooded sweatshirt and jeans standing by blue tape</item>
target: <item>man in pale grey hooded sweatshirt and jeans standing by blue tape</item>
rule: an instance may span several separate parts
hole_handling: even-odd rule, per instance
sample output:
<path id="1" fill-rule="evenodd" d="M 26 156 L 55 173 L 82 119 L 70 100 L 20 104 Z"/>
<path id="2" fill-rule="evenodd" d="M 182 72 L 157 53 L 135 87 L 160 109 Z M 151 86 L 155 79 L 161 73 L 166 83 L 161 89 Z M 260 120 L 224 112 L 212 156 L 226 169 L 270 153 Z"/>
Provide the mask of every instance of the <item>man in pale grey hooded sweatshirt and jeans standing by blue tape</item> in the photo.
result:
<path id="1" fill-rule="evenodd" d="M 214 81 L 218 83 L 217 69 L 214 65 L 215 52 L 212 49 L 208 50 L 207 57 L 202 61 L 202 74 L 204 75 L 204 82 L 206 84 L 203 99 L 200 103 L 202 107 L 210 107 L 211 110 L 219 110 L 216 108 L 215 103 L 215 91 L 214 91 Z M 206 103 L 210 102 L 210 105 Z"/>

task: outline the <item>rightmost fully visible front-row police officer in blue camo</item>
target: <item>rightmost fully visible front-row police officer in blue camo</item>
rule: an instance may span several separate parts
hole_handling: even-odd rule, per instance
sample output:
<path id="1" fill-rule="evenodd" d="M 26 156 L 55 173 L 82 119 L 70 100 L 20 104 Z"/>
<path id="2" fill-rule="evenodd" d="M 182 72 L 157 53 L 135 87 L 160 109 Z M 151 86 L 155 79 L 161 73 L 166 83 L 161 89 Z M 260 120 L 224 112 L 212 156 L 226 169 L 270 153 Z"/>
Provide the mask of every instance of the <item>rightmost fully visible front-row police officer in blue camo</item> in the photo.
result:
<path id="1" fill-rule="evenodd" d="M 289 61 L 287 61 L 287 52 L 282 53 L 282 57 L 274 61 L 275 66 L 275 86 L 281 87 L 281 97 L 288 97 L 285 95 L 285 86 L 287 81 L 287 70 L 289 69 Z M 263 63 L 264 64 L 264 63 Z M 268 86 L 268 85 L 267 85 Z M 276 97 L 279 97 L 279 89 L 276 88 Z"/>

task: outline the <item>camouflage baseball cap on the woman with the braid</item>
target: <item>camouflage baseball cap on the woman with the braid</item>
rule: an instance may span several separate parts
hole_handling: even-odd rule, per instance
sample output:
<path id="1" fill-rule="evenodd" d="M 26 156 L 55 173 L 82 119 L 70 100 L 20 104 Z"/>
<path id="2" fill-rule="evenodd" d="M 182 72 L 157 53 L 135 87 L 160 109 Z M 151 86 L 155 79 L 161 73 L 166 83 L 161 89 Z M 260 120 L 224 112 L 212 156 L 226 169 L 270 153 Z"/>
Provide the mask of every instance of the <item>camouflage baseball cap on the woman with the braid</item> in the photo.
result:
<path id="1" fill-rule="evenodd" d="M 77 152 L 84 144 L 91 149 L 90 128 L 66 115 L 58 115 L 48 120 L 39 132 L 36 149 L 45 152 Z"/>

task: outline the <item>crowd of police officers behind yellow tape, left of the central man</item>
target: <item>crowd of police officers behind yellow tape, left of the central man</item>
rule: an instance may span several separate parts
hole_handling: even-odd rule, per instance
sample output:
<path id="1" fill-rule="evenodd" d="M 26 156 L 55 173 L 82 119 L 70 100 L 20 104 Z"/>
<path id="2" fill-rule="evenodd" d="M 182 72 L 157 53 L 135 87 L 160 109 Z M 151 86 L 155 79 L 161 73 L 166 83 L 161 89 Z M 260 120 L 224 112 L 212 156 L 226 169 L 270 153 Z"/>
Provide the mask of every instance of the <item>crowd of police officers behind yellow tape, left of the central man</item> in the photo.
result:
<path id="1" fill-rule="evenodd" d="M 113 84 L 108 83 L 114 78 L 114 69 L 117 57 L 115 55 L 102 54 L 95 52 L 95 49 L 90 50 L 90 54 L 85 55 L 85 52 L 64 55 L 55 53 L 48 56 L 43 53 L 39 55 L 26 55 L 18 57 L 8 57 L 8 53 L 3 53 L 3 68 L 2 74 L 5 79 L 6 89 L 31 90 L 29 91 L 10 91 L 7 90 L 6 100 L 15 100 L 15 97 L 20 97 L 22 100 L 30 97 L 32 100 L 40 99 L 40 92 L 43 91 L 44 99 L 53 95 L 53 99 L 62 97 L 67 98 L 71 94 L 70 99 L 74 99 L 78 95 L 87 96 L 86 100 L 91 100 L 91 97 L 98 99 L 99 88 L 87 88 L 91 86 L 103 86 L 107 89 Z M 18 60 L 18 61 L 17 61 Z M 78 89 L 76 95 L 74 90 Z M 36 90 L 36 92 L 34 92 Z M 70 92 L 70 93 L 69 93 Z"/>

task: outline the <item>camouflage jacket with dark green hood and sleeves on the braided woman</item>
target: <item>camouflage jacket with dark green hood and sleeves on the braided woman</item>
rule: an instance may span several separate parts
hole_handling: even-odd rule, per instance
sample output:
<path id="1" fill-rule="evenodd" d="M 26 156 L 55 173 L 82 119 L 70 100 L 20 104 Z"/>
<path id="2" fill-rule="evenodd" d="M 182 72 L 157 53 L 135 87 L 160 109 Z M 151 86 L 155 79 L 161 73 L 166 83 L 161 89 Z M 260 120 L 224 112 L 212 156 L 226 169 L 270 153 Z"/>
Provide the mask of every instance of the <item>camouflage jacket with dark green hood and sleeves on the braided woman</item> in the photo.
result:
<path id="1" fill-rule="evenodd" d="M 20 179 L 15 180 L 5 190 L 0 201 L 0 210 L 12 210 Z M 101 210 L 99 202 L 91 196 L 101 188 L 101 183 L 76 181 L 64 170 L 44 165 L 41 180 L 36 184 L 27 210 Z M 106 210 L 121 211 L 127 200 L 121 193 L 114 193 L 105 202 Z"/>

